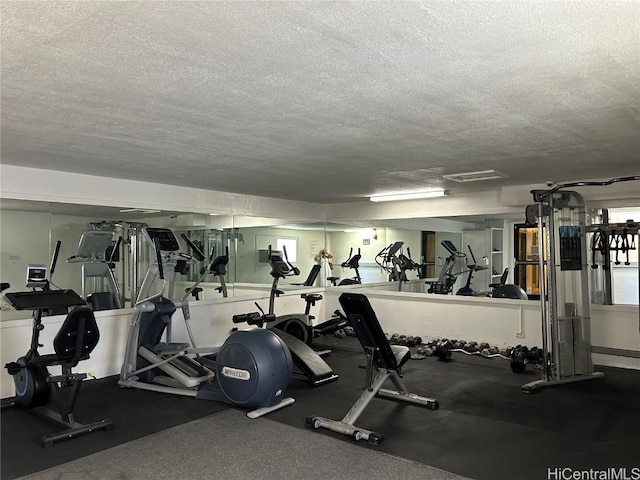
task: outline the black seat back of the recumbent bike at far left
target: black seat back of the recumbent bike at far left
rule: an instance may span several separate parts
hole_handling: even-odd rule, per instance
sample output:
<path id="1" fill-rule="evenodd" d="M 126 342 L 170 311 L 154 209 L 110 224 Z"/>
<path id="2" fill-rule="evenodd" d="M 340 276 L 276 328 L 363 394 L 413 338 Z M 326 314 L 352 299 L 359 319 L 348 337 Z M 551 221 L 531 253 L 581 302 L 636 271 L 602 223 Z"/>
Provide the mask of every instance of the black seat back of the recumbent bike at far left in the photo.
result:
<path id="1" fill-rule="evenodd" d="M 88 306 L 80 306 L 71 310 L 65 318 L 53 339 L 53 349 L 59 363 L 74 367 L 80 360 L 89 358 L 99 339 L 100 332 L 93 310 Z"/>

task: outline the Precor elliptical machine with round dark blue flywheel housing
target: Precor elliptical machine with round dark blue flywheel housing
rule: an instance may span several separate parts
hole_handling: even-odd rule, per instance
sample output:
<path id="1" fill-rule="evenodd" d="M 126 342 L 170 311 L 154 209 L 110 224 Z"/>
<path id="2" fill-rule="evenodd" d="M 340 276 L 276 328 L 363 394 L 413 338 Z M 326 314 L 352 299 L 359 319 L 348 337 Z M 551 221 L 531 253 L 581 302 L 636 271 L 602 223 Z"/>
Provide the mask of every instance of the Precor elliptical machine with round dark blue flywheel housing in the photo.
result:
<path id="1" fill-rule="evenodd" d="M 171 341 L 172 316 L 178 308 L 193 338 L 188 302 L 164 296 L 167 283 L 172 292 L 176 273 L 184 272 L 193 257 L 181 252 L 170 229 L 146 227 L 142 233 L 154 247 L 156 264 L 149 267 L 133 309 L 118 385 L 230 403 L 253 409 L 247 414 L 250 418 L 292 404 L 293 398 L 284 397 L 292 372 L 291 354 L 273 332 L 237 331 L 219 349 Z M 204 259 L 201 252 L 197 255 Z M 149 295 L 157 280 L 162 282 L 160 291 Z M 205 358 L 206 353 L 214 354 L 215 360 Z"/>

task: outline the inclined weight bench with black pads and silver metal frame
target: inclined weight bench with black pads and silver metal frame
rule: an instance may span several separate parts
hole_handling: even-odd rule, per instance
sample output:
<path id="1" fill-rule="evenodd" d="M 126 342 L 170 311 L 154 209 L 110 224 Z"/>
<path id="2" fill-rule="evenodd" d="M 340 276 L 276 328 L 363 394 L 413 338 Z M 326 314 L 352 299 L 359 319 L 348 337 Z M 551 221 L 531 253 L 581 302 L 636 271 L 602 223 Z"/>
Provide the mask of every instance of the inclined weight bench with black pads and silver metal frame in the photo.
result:
<path id="1" fill-rule="evenodd" d="M 377 445 L 383 440 L 381 433 L 355 425 L 374 397 L 413 403 L 431 410 L 436 410 L 440 405 L 436 399 L 409 393 L 400 374 L 402 366 L 411 358 L 409 348 L 389 344 L 369 299 L 359 293 L 343 293 L 339 301 L 367 356 L 364 392 L 341 421 L 307 417 L 305 423 L 308 427 L 326 428 L 350 436 L 354 440 L 365 439 Z M 391 380 L 395 390 L 382 388 L 387 379 Z"/>

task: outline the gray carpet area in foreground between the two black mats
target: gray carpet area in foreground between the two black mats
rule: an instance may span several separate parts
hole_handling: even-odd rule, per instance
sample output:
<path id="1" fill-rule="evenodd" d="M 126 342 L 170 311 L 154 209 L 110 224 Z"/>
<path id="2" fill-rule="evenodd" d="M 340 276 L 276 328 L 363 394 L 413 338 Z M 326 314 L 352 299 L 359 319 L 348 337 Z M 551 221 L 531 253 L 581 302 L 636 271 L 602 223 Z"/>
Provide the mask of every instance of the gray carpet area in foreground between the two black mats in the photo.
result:
<path id="1" fill-rule="evenodd" d="M 250 420 L 243 412 L 230 409 L 21 478 L 453 480 L 464 477 L 268 418 Z"/>

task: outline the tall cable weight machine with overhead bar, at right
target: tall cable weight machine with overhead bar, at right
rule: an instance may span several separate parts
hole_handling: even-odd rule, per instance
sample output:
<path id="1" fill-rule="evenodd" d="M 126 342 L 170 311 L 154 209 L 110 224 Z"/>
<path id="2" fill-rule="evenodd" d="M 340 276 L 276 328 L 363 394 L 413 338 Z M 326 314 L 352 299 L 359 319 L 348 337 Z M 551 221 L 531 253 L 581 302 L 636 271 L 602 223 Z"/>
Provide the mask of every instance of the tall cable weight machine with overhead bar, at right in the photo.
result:
<path id="1" fill-rule="evenodd" d="M 539 388 L 604 377 L 594 371 L 591 358 L 590 299 L 587 265 L 586 208 L 583 197 L 565 190 L 577 186 L 604 186 L 640 180 L 640 176 L 606 182 L 559 184 L 550 190 L 532 190 L 534 205 L 527 222 L 538 225 L 545 239 L 546 257 L 539 256 L 542 316 L 542 379 L 521 388 Z"/>

